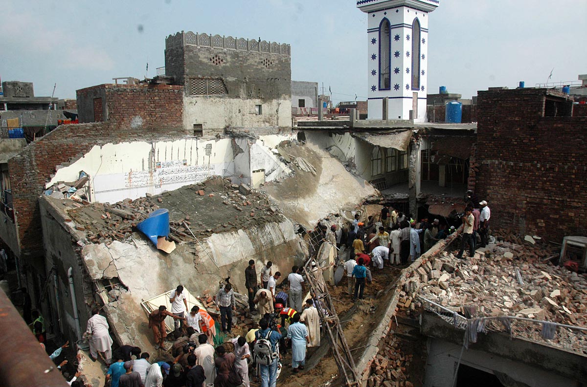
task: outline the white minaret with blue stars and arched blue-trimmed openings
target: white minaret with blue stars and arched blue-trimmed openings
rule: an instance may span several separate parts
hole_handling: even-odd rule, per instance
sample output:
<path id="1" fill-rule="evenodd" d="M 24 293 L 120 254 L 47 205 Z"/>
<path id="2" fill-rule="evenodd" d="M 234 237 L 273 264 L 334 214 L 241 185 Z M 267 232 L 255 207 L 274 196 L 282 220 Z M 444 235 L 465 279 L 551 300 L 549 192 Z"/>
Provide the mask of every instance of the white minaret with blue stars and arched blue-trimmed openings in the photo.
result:
<path id="1" fill-rule="evenodd" d="M 369 120 L 424 122 L 428 13 L 438 0 L 359 0 L 367 13 Z M 384 99 L 387 97 L 387 117 Z"/>

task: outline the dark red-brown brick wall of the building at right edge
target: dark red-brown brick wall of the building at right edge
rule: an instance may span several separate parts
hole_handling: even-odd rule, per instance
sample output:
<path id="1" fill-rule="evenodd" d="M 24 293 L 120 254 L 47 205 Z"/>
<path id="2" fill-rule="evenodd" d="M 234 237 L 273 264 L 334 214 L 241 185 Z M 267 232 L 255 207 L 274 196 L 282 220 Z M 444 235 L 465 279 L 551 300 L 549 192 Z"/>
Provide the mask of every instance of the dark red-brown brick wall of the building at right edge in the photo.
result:
<path id="1" fill-rule="evenodd" d="M 587 235 L 587 117 L 543 117 L 546 89 L 480 91 L 475 191 L 494 227 L 559 241 Z"/>

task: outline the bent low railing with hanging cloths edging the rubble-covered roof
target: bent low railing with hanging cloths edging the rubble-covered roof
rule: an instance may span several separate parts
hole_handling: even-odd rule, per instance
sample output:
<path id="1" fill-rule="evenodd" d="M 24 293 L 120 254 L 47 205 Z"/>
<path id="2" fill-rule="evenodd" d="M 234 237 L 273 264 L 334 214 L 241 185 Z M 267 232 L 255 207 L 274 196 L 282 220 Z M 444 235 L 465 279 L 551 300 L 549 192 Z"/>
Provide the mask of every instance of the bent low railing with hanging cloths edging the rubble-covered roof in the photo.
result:
<path id="1" fill-rule="evenodd" d="M 533 341 L 579 355 L 587 355 L 587 328 L 515 316 L 465 318 L 456 311 L 427 298 L 421 296 L 419 298 L 423 301 L 425 310 L 438 315 L 454 328 L 468 331 L 465 337 L 467 347 L 468 343 L 477 342 L 478 332 L 491 331 L 509 334 L 511 338 Z"/>

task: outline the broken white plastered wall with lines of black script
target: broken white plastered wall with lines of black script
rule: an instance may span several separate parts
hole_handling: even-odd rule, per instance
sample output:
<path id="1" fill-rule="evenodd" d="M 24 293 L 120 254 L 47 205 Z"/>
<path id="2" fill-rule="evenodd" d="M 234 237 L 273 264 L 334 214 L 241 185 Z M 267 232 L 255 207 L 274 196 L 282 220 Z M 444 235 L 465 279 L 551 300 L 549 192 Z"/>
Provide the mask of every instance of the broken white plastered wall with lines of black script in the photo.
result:
<path id="1" fill-rule="evenodd" d="M 80 171 L 90 175 L 92 201 L 118 202 L 156 195 L 210 176 L 230 176 L 235 183 L 249 183 L 251 171 L 265 169 L 265 181 L 281 178 L 289 167 L 268 147 L 289 136 L 265 136 L 265 140 L 223 138 L 203 141 L 184 138 L 176 141 L 122 142 L 96 145 L 82 158 L 56 171 L 46 184 L 73 182 Z M 234 141 L 234 144 L 233 144 Z"/>

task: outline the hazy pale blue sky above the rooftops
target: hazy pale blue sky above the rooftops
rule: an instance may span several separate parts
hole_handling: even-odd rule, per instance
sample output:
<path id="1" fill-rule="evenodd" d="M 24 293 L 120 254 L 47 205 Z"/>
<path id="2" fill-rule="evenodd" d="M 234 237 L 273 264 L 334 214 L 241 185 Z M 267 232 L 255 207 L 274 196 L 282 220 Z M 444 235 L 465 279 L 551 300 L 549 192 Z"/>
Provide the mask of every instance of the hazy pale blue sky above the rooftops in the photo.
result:
<path id="1" fill-rule="evenodd" d="M 367 96 L 367 15 L 352 0 L 4 0 L 0 77 L 35 95 L 75 98 L 113 77 L 164 66 L 180 30 L 259 37 L 292 46 L 292 79 Z M 430 14 L 428 90 L 463 97 L 490 86 L 576 80 L 587 73 L 586 0 L 440 0 Z M 345 95 L 346 94 L 346 95 Z"/>

